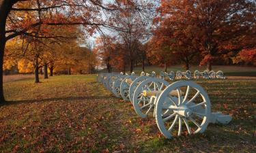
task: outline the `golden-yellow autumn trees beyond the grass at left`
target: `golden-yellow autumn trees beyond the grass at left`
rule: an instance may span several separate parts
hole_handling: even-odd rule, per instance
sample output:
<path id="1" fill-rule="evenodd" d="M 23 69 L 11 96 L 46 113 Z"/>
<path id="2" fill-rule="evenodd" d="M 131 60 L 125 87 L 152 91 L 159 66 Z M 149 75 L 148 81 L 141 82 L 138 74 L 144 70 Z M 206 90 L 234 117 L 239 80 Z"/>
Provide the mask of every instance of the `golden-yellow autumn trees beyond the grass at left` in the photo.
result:
<path id="1" fill-rule="evenodd" d="M 5 74 L 34 73 L 35 82 L 39 74 L 44 79 L 53 74 L 94 73 L 96 54 L 83 37 L 79 27 L 55 27 L 48 32 L 61 35 L 48 39 L 29 36 L 16 37 L 8 41 L 5 48 L 3 69 Z"/>

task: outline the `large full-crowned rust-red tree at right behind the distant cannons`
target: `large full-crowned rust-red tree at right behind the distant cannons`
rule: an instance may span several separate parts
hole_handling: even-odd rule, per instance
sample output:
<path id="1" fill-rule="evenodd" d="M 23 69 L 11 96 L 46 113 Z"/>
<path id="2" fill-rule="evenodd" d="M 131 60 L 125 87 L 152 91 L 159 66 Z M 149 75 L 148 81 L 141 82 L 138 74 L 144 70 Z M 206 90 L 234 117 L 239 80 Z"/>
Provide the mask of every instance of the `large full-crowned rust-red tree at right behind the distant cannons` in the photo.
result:
<path id="1" fill-rule="evenodd" d="M 163 0 L 156 19 L 160 24 L 168 23 L 175 33 L 184 31 L 186 39 L 182 39 L 184 35 L 174 38 L 184 45 L 186 41 L 192 42 L 191 47 L 199 48 L 203 56 L 201 65 L 206 64 L 210 70 L 214 58 L 223 54 L 223 44 L 250 33 L 255 24 L 255 8 L 255 1 L 247 0 Z"/>

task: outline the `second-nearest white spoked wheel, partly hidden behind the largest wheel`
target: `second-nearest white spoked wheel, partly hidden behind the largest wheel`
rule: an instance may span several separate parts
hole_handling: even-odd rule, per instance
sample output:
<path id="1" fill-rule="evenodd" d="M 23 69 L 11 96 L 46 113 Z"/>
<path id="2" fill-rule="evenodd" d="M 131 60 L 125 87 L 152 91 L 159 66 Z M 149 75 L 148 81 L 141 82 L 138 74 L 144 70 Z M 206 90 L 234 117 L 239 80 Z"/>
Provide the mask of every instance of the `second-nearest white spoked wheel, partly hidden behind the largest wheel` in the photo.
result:
<path id="1" fill-rule="evenodd" d="M 154 102 L 156 101 L 156 97 L 153 101 L 151 101 L 152 97 L 144 96 L 143 90 L 161 91 L 164 90 L 168 85 L 169 83 L 167 81 L 159 78 L 148 78 L 147 80 L 141 82 L 141 84 L 137 86 L 133 95 L 133 107 L 135 112 L 141 116 L 141 118 L 146 118 L 150 111 L 154 111 Z"/>

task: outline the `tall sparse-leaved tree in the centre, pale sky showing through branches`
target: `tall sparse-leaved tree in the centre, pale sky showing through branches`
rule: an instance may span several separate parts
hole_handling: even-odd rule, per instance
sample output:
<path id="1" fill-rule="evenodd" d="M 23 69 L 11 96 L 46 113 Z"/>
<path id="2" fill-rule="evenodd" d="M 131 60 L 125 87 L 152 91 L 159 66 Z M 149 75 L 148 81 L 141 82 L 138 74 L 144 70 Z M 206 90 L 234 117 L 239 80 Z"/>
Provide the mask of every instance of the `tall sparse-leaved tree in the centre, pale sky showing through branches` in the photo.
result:
<path id="1" fill-rule="evenodd" d="M 128 61 L 130 73 L 133 71 L 134 63 L 141 56 L 141 43 L 150 37 L 150 22 L 152 20 L 153 4 L 150 1 L 120 1 L 119 10 L 111 12 L 109 16 L 115 27 L 122 27 L 123 31 L 117 31 L 115 37 L 122 44 L 123 51 L 126 52 L 123 61 Z M 137 6 L 141 10 L 137 11 Z"/>

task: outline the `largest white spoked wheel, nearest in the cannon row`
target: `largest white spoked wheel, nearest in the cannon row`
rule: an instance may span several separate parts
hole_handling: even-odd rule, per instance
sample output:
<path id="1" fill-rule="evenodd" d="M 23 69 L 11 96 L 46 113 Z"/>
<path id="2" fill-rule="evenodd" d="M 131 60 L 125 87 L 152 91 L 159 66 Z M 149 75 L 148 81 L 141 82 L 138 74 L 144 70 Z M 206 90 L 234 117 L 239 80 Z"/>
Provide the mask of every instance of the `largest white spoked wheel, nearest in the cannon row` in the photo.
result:
<path id="1" fill-rule="evenodd" d="M 177 98 L 169 95 L 173 90 L 177 91 Z M 184 97 L 181 94 L 182 90 Z M 169 114 L 165 114 L 167 111 Z M 169 139 L 173 135 L 182 134 L 182 122 L 186 125 L 188 134 L 203 133 L 208 126 L 210 114 L 211 104 L 207 92 L 191 81 L 170 84 L 156 102 L 158 129 Z M 174 130 L 176 128 L 177 131 Z"/>

